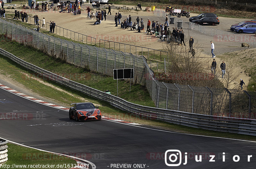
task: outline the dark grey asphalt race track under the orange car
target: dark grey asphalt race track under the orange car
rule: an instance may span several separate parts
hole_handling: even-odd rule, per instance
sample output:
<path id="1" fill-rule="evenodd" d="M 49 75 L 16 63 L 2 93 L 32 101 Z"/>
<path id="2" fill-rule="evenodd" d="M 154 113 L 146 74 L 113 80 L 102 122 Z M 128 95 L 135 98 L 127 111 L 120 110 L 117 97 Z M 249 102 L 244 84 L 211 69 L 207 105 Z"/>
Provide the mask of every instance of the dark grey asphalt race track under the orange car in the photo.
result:
<path id="1" fill-rule="evenodd" d="M 127 167 L 124 164 L 131 164 L 128 168 L 171 168 L 164 160 L 164 153 L 169 149 L 181 151 L 182 159 L 176 162 L 172 163 L 167 157 L 169 164 L 177 164 L 181 159 L 180 168 L 254 168 L 256 165 L 255 142 L 151 130 L 108 120 L 76 122 L 69 120 L 68 111 L 33 102 L 4 89 L 0 89 L 0 108 L 0 137 L 84 158 L 99 169 L 114 168 L 114 164 L 119 168 Z M 11 119 L 4 119 L 11 114 Z M 188 161 L 183 165 L 185 152 Z M 223 152 L 225 162 L 222 162 Z M 196 162 L 195 155 L 202 155 L 202 162 Z M 215 162 L 209 162 L 209 155 L 215 156 Z M 240 161 L 234 162 L 234 155 L 238 155 Z M 250 162 L 247 162 L 248 155 L 252 155 Z M 174 158 L 172 156 L 172 160 Z"/>

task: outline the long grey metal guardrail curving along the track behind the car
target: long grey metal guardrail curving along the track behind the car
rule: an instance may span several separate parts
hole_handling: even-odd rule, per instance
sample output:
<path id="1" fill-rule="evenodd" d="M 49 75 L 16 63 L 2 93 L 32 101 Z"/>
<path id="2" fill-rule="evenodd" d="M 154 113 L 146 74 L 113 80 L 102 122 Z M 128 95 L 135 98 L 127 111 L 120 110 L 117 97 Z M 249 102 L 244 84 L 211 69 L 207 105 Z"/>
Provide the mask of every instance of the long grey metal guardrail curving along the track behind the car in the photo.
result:
<path id="1" fill-rule="evenodd" d="M 115 106 L 127 112 L 131 112 L 140 116 L 145 116 L 151 118 L 152 120 L 162 120 L 165 122 L 194 128 L 256 136 L 256 120 L 254 119 L 210 116 L 134 104 L 114 95 L 106 94 L 105 92 L 102 92 L 100 90 L 90 88 L 83 84 L 61 77 L 57 74 L 53 74 L 47 70 L 30 64 L 24 60 L 21 60 L 20 58 L 6 52 L 3 49 L 0 49 L 0 52 L 5 57 L 10 58 L 14 62 L 42 75 L 43 77 L 46 77 L 52 81 L 55 81 L 74 90 L 80 91 L 86 95 L 108 102 L 112 106 Z"/>

